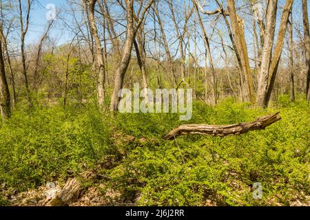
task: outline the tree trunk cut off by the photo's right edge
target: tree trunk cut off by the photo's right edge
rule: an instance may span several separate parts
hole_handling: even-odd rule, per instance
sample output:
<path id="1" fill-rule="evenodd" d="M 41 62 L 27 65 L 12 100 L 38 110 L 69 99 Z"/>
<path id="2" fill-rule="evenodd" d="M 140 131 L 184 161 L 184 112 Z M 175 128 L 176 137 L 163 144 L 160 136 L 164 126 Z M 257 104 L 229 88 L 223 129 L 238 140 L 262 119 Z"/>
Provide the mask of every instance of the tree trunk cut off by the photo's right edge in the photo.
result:
<path id="1" fill-rule="evenodd" d="M 309 34 L 309 19 L 308 19 L 308 0 L 302 0 L 302 23 L 304 27 L 304 55 L 306 67 L 306 96 L 307 101 L 310 100 L 310 34 Z"/>

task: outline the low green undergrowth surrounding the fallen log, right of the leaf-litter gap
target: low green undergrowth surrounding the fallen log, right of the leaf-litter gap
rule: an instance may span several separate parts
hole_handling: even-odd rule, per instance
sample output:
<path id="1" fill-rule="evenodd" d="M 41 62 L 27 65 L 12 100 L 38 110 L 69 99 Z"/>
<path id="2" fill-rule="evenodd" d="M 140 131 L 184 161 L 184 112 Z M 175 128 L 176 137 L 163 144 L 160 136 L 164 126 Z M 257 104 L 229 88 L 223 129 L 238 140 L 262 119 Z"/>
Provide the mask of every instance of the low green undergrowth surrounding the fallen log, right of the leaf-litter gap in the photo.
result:
<path id="1" fill-rule="evenodd" d="M 265 130 L 231 137 L 187 135 L 174 141 L 161 138 L 184 123 L 176 115 L 119 115 L 125 133 L 151 136 L 156 144 L 134 148 L 110 173 L 115 178 L 112 186 L 140 191 L 141 205 L 289 205 L 302 200 L 310 193 L 307 103 L 261 110 L 231 99 L 216 107 L 197 102 L 188 123 L 247 122 L 278 110 L 282 120 Z M 262 199 L 252 196 L 255 182 L 262 184 Z"/>

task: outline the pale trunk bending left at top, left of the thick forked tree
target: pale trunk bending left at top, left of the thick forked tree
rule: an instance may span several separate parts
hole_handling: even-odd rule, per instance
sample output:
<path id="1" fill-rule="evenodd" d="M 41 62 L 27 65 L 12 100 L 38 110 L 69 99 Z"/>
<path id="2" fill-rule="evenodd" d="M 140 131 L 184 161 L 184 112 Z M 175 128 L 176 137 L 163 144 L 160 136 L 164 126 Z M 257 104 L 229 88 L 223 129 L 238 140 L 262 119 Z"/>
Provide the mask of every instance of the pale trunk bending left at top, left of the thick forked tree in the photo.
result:
<path id="1" fill-rule="evenodd" d="M 87 5 L 87 2 L 85 1 Z M 105 106 L 105 65 L 103 63 L 103 50 L 101 47 L 101 41 L 98 34 L 98 29 L 96 26 L 95 18 L 94 18 L 94 7 L 96 4 L 96 0 L 89 1 L 88 10 L 90 12 L 90 25 L 92 36 L 96 45 L 96 61 L 98 64 L 98 82 L 97 82 L 97 93 L 98 93 L 98 103 L 101 109 L 104 109 Z"/>

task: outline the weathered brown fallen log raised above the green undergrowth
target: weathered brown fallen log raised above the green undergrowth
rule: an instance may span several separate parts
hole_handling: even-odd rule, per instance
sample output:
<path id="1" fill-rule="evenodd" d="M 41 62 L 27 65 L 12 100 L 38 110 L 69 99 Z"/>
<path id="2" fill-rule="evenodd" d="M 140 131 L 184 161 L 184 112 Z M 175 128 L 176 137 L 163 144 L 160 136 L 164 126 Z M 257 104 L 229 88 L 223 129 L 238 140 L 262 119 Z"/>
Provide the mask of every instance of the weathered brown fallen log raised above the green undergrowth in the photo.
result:
<path id="1" fill-rule="evenodd" d="M 164 136 L 165 140 L 173 140 L 180 135 L 199 134 L 199 135 L 212 135 L 212 136 L 228 136 L 238 135 L 241 133 L 247 133 L 249 131 L 265 129 L 265 127 L 281 120 L 281 117 L 277 113 L 272 115 L 262 116 L 253 122 L 246 122 L 240 124 L 229 125 L 207 125 L 207 124 L 183 124 L 176 129 L 169 131 Z"/>

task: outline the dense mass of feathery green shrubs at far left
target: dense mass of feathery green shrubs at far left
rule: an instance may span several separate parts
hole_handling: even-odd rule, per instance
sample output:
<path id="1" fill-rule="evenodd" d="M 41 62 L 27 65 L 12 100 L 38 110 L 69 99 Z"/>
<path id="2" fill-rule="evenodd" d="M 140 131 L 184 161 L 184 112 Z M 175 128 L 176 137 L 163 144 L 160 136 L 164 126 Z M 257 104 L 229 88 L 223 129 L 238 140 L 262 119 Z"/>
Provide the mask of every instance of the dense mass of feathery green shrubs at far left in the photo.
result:
<path id="1" fill-rule="evenodd" d="M 96 109 L 15 111 L 0 129 L 0 181 L 25 190 L 95 164 L 109 151 L 108 124 Z"/>

